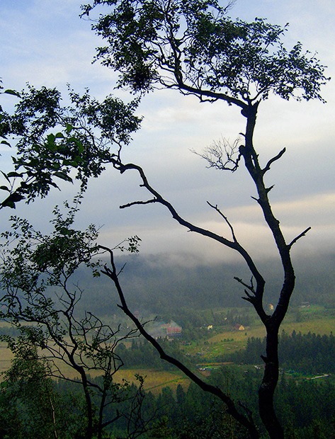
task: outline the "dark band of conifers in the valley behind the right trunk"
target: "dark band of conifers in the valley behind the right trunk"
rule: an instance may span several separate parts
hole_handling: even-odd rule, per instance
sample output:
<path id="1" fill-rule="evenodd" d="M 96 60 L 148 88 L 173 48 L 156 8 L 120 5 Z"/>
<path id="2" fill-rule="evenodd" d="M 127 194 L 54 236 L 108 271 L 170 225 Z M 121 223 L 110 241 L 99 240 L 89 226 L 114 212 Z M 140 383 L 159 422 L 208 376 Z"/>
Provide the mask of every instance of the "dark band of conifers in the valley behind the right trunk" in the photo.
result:
<path id="1" fill-rule="evenodd" d="M 279 337 L 280 365 L 306 374 L 335 372 L 335 336 L 320 336 L 315 333 L 291 335 L 283 331 Z M 259 364 L 265 353 L 265 338 L 248 338 L 246 349 L 229 355 L 235 363 Z"/>

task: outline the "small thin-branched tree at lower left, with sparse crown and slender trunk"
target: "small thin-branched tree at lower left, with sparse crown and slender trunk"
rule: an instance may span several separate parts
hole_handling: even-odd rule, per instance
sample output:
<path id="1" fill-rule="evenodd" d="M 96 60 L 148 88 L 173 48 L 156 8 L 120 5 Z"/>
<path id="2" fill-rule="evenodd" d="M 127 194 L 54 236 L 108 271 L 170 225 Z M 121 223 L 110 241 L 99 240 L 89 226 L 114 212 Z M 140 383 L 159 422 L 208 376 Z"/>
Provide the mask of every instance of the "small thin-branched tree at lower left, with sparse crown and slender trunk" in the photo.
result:
<path id="1" fill-rule="evenodd" d="M 17 380 L 22 380 L 26 370 L 35 376 L 35 370 L 30 372 L 34 364 L 40 367 L 41 373 L 47 370 L 50 377 L 72 380 L 81 386 L 85 438 L 92 438 L 96 433 L 99 439 L 104 428 L 123 416 L 115 405 L 123 399 L 132 401 L 139 397 L 137 394 L 130 397 L 127 382 L 113 381 L 113 375 L 123 365 L 115 348 L 125 338 L 136 336 L 136 331 L 112 329 L 91 312 L 82 316 L 77 313 L 76 304 L 82 290 L 72 283 L 72 275 L 79 266 L 86 266 L 93 275 L 98 275 L 101 266 L 99 259 L 93 258 L 100 251 L 96 244 L 96 227 L 91 225 L 84 232 L 74 229 L 80 202 L 81 194 L 73 205 L 64 203 L 67 215 L 63 215 L 59 207 L 55 208 L 55 218 L 51 221 L 54 229 L 50 234 L 43 235 L 27 220 L 18 217 L 12 217 L 11 230 L 1 234 L 4 244 L 0 285 L 4 292 L 0 317 L 21 333 L 18 338 L 1 336 L 1 339 L 18 357 L 8 372 L 11 379 L 15 372 Z M 137 251 L 138 241 L 135 236 L 117 248 Z M 30 362 L 32 355 L 35 363 Z M 71 367 L 76 377 L 67 375 L 64 367 L 65 370 Z M 89 376 L 92 372 L 101 374 L 102 379 L 93 382 Z M 21 397 L 18 392 L 18 398 Z M 141 404 L 135 404 L 138 416 Z M 109 419 L 105 412 L 107 406 L 114 411 Z M 37 428 L 35 424 L 34 428 Z M 137 431 L 139 428 L 136 426 Z"/>

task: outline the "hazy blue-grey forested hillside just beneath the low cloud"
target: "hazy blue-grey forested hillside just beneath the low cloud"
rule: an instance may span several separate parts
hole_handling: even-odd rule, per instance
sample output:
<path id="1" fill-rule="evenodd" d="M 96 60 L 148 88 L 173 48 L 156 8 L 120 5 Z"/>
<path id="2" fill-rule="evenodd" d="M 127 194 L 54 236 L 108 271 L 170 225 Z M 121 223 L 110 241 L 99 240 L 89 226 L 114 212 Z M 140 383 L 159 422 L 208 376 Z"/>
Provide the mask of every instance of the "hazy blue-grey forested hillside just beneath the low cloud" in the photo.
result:
<path id="1" fill-rule="evenodd" d="M 183 266 L 171 262 L 169 255 L 164 254 L 118 256 L 115 261 L 119 267 L 126 263 L 120 283 L 131 309 L 142 314 L 174 314 L 181 308 L 247 306 L 241 299 L 243 288 L 234 280 L 234 276 L 245 280 L 250 277 L 242 263 Z M 274 261 L 264 261 L 260 265 L 266 279 L 266 301 L 276 303 L 282 282 L 281 268 Z M 335 306 L 334 256 L 319 258 L 317 263 L 312 259 L 298 260 L 295 271 L 297 283 L 292 297 L 293 305 L 308 301 Z M 118 297 L 106 276 L 93 278 L 89 270 L 80 270 L 77 277 L 79 286 L 84 290 L 80 307 L 98 315 L 117 312 Z"/>

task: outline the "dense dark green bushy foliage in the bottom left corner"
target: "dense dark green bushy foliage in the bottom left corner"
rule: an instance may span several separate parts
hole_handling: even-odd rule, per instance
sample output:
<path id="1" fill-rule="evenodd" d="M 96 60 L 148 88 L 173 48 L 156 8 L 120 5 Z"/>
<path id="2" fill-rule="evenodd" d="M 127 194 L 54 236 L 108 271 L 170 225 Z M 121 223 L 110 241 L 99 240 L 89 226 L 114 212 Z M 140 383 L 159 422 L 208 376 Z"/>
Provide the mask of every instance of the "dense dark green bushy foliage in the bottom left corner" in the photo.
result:
<path id="1" fill-rule="evenodd" d="M 0 386 L 1 438 L 90 437 L 86 428 L 87 407 L 78 385 L 69 380 L 52 380 L 47 362 L 39 358 L 35 344 L 26 337 L 8 340 L 8 344 L 14 358 Z M 91 379 L 91 383 L 102 387 L 105 379 L 101 375 Z M 110 437 L 112 431 L 136 438 L 151 426 L 156 414 L 144 404 L 143 378 L 137 375 L 136 380 L 136 384 L 124 382 L 123 392 L 118 387 L 118 394 L 105 407 L 105 418 L 113 419 L 113 423 L 106 423 L 103 436 L 96 431 L 93 438 Z M 98 394 L 92 392 L 92 399 L 98 408 Z"/>

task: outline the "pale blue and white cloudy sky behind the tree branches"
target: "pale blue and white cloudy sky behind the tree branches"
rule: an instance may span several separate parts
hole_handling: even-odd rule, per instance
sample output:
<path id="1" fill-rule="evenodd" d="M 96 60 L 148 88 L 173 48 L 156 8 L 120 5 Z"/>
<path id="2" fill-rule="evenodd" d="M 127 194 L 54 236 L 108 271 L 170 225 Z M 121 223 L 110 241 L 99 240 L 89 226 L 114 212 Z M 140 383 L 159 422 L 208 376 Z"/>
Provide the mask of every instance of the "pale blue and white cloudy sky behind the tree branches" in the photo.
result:
<path id="1" fill-rule="evenodd" d="M 91 23 L 79 18 L 80 4 L 80 0 L 0 0 L 0 77 L 5 88 L 21 90 L 29 82 L 66 93 L 69 83 L 78 92 L 89 88 L 96 98 L 113 93 L 130 99 L 127 91 L 114 89 L 117 75 L 113 71 L 98 62 L 92 64 L 101 40 L 91 31 Z M 263 17 L 271 23 L 290 23 L 286 47 L 300 40 L 327 65 L 327 76 L 335 78 L 333 0 L 237 0 L 229 15 L 246 21 Z M 322 90 L 326 104 L 273 97 L 261 103 L 255 133 L 263 164 L 283 147 L 287 149 L 268 173 L 269 186 L 275 185 L 273 210 L 289 242 L 312 226 L 293 247 L 293 256 L 316 260 L 320 253 L 334 253 L 335 248 L 334 84 L 333 79 Z M 4 108 L 13 106 L 12 96 L 0 98 Z M 229 230 L 210 209 L 209 201 L 225 212 L 239 241 L 256 260 L 276 255 L 244 170 L 232 174 L 206 169 L 205 161 L 191 152 L 201 152 L 221 137 L 233 141 L 244 130 L 239 110 L 225 103 L 199 103 L 176 91 L 156 91 L 142 100 L 138 113 L 144 116 L 142 128 L 127 147 L 125 160 L 140 164 L 151 185 L 186 220 L 229 238 Z M 10 156 L 11 151 L 3 148 L 1 166 L 8 166 Z M 113 170 L 91 181 L 79 227 L 92 222 L 101 226 L 101 243 L 108 246 L 137 234 L 142 253 L 169 252 L 181 264 L 188 260 L 185 255 L 200 263 L 237 258 L 232 251 L 188 233 L 164 207 L 120 210 L 119 205 L 149 198 L 139 184 L 135 173 L 120 176 Z M 75 193 L 74 186 L 66 185 L 62 192 L 52 190 L 46 200 L 18 205 L 15 213 L 47 229 L 52 207 Z M 0 211 L 1 229 L 8 228 L 12 214 Z"/>

